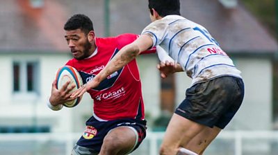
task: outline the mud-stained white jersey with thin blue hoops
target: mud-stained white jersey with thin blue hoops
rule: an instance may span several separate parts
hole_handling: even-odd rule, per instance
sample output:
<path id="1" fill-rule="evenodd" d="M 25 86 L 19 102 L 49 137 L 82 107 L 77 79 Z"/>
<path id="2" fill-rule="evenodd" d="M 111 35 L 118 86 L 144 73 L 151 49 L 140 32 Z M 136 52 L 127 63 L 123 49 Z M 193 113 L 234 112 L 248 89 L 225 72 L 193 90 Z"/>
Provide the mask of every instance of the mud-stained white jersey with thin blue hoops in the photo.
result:
<path id="1" fill-rule="evenodd" d="M 192 84 L 224 75 L 240 77 L 229 56 L 203 26 L 179 15 L 168 15 L 149 24 L 142 34 L 152 37 L 183 71 Z"/>

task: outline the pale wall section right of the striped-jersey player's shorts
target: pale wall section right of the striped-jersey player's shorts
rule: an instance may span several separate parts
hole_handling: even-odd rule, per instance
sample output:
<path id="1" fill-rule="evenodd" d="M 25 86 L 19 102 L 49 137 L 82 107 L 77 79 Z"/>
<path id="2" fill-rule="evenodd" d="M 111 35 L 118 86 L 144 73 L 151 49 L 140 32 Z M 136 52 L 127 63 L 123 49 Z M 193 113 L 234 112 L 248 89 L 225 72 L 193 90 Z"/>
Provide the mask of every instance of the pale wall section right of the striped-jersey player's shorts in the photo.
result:
<path id="1" fill-rule="evenodd" d="M 229 129 L 272 129 L 272 64 L 263 58 L 234 61 L 245 82 L 243 104 Z"/>

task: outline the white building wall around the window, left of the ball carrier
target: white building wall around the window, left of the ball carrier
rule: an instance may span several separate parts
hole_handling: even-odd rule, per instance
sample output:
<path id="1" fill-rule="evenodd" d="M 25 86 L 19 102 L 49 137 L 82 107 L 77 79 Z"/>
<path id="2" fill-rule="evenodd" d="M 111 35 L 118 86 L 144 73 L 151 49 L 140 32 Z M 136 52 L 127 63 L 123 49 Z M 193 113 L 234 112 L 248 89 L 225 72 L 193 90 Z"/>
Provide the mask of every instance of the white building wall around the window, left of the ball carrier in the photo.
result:
<path id="1" fill-rule="evenodd" d="M 1 55 L 0 69 L 3 80 L 0 80 L 0 125 L 53 125 L 53 131 L 75 131 L 75 123 L 82 117 L 76 109 L 64 107 L 60 111 L 52 111 L 46 106 L 51 93 L 51 83 L 56 71 L 63 66 L 70 55 Z M 13 60 L 37 60 L 39 62 L 40 94 L 34 96 L 16 96 L 13 94 Z M 16 98 L 17 97 L 17 98 Z M 19 97 L 19 98 L 18 98 Z M 88 100 L 84 96 L 83 102 Z M 88 108 L 87 108 L 88 109 Z M 85 111 L 88 113 L 88 111 Z M 91 112 L 92 113 L 92 112 Z M 83 129 L 83 127 L 80 127 Z M 79 129 L 81 130 L 81 129 Z"/>

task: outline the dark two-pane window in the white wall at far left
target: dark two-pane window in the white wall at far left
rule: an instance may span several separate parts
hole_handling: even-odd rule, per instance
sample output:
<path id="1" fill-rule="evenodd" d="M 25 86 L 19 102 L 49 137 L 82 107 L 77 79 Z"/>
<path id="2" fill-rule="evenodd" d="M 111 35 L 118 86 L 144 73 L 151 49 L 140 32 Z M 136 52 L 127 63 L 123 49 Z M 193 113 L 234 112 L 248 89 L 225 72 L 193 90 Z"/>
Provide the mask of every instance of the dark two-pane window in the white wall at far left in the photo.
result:
<path id="1" fill-rule="evenodd" d="M 13 93 L 38 94 L 38 62 L 13 62 Z"/>

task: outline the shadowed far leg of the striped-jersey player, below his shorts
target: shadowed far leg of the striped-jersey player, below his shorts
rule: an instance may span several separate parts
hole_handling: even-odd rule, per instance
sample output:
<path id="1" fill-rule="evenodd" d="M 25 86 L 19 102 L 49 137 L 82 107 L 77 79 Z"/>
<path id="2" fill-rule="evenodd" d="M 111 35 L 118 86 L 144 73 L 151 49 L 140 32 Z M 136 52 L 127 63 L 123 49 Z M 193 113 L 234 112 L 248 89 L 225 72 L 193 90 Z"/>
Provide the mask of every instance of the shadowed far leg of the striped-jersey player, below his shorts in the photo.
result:
<path id="1" fill-rule="evenodd" d="M 218 127 L 205 127 L 199 134 L 192 138 L 187 145 L 184 145 L 186 149 L 190 149 L 197 154 L 202 154 L 206 147 L 218 136 L 221 129 Z"/>

